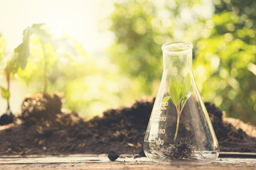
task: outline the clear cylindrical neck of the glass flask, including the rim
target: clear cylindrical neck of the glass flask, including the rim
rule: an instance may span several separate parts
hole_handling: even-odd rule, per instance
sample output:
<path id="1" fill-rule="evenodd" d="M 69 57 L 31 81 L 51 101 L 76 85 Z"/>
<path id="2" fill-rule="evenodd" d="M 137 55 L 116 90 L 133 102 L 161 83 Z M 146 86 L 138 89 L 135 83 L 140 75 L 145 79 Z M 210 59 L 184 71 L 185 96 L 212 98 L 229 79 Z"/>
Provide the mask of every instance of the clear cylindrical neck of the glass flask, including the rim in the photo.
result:
<path id="1" fill-rule="evenodd" d="M 171 42 L 162 46 L 164 72 L 170 79 L 182 82 L 192 72 L 192 49 L 189 42 Z"/>

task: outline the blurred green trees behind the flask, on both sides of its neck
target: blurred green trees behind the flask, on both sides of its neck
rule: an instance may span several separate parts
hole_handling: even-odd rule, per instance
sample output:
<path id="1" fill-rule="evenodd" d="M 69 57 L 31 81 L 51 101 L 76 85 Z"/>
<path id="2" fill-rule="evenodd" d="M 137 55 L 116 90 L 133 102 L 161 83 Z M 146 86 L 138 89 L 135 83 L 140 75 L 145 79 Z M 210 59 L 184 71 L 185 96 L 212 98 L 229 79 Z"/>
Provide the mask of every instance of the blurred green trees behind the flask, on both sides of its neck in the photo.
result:
<path id="1" fill-rule="evenodd" d="M 194 44 L 195 78 L 205 101 L 256 125 L 254 1 L 117 1 L 111 30 L 112 62 L 137 91 L 156 94 L 162 74 L 161 45 Z M 207 13 L 214 9 L 214 13 Z"/>

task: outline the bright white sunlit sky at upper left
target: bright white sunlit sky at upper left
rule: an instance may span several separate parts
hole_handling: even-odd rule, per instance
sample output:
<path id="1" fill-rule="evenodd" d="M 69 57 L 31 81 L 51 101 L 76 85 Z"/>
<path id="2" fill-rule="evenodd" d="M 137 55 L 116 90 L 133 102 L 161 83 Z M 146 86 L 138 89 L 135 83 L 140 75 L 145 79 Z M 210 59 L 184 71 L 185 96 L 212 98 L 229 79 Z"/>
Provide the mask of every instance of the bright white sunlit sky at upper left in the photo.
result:
<path id="1" fill-rule="evenodd" d="M 24 29 L 33 23 L 46 23 L 56 35 L 65 30 L 86 52 L 103 52 L 113 40 L 113 33 L 100 31 L 111 24 L 106 17 L 114 9 L 112 4 L 112 1 L 100 0 L 0 0 L 0 33 L 6 39 L 7 51 L 12 52 L 22 42 Z M 100 19 L 104 19 L 101 25 Z M 6 86 L 3 77 L 0 85 Z M 15 95 L 11 96 L 10 103 L 14 113 L 20 111 L 21 99 L 26 94 L 24 89 L 25 85 L 11 83 L 11 94 Z M 5 110 L 6 101 L 0 97 L 0 115 Z"/>

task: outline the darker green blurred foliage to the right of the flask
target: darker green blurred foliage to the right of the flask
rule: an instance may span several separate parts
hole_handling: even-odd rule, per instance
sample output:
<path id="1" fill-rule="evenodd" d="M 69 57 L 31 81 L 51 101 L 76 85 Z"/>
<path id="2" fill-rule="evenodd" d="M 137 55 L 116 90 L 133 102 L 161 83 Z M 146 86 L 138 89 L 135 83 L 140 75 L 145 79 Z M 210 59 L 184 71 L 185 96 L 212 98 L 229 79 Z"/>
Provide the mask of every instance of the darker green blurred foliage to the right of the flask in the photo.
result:
<path id="1" fill-rule="evenodd" d="M 256 2 L 214 3 L 214 27 L 196 45 L 198 84 L 228 116 L 256 125 Z"/>

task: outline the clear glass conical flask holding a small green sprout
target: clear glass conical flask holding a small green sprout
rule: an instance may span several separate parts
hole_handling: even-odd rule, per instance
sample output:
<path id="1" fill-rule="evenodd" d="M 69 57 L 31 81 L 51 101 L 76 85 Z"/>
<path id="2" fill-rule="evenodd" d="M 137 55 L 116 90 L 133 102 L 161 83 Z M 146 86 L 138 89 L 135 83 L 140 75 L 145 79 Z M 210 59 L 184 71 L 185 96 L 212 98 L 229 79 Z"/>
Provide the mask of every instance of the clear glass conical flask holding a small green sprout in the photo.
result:
<path id="1" fill-rule="evenodd" d="M 192 72 L 189 42 L 162 46 L 164 72 L 144 138 L 144 152 L 162 164 L 208 164 L 218 141 Z"/>

